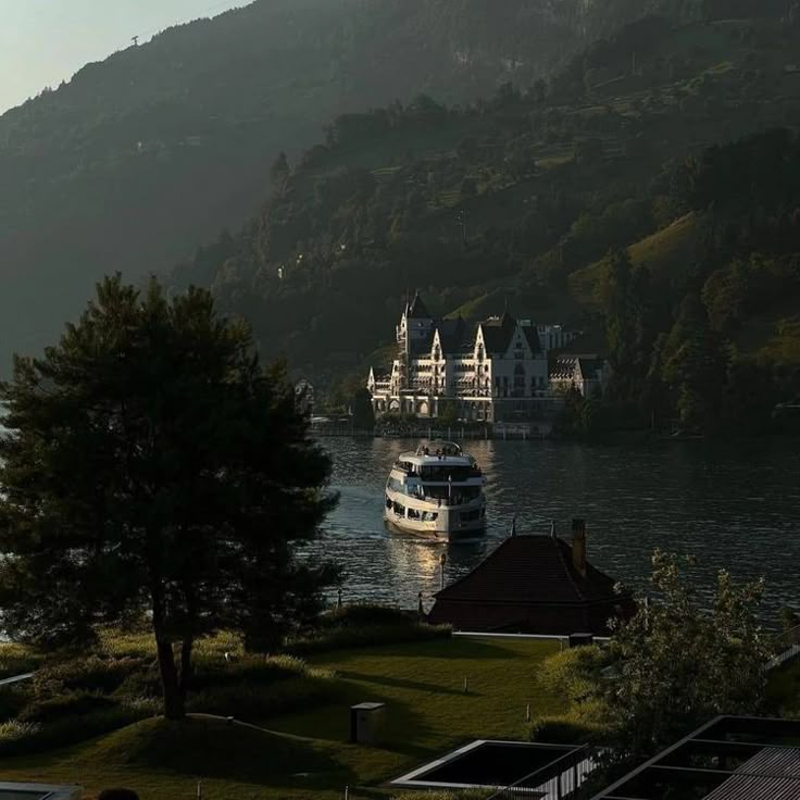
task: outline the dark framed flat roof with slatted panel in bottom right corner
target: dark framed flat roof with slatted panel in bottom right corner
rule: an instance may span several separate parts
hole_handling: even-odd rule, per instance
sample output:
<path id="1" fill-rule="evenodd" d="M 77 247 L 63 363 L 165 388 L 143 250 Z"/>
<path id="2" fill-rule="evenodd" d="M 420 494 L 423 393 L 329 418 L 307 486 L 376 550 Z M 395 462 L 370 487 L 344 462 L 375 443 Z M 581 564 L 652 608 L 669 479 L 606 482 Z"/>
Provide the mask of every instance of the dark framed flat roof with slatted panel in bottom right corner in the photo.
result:
<path id="1" fill-rule="evenodd" d="M 800 800 L 800 720 L 718 716 L 592 800 Z"/>

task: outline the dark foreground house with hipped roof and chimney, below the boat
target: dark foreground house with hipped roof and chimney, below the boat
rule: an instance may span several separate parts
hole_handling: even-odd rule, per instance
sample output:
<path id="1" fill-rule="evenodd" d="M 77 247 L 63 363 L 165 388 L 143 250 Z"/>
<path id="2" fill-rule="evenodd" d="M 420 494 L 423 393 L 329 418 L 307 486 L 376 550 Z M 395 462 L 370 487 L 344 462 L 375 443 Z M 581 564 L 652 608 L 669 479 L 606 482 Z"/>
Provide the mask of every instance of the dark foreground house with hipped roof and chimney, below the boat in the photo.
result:
<path id="1" fill-rule="evenodd" d="M 586 525 L 570 542 L 512 535 L 465 577 L 436 595 L 429 621 L 457 630 L 568 636 L 609 634 L 635 612 L 628 593 L 586 558 Z"/>

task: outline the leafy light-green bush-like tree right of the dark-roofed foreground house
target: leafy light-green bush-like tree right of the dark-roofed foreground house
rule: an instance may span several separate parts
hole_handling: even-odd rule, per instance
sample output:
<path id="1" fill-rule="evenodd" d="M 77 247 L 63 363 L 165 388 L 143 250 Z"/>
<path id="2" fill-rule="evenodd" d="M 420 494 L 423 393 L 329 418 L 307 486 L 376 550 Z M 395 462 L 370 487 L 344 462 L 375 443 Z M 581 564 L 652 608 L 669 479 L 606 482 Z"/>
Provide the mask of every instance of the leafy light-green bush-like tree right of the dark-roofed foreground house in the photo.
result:
<path id="1" fill-rule="evenodd" d="M 693 559 L 657 550 L 652 565 L 657 599 L 639 597 L 638 613 L 617 627 L 609 653 L 615 679 L 595 689 L 626 761 L 716 714 L 755 713 L 765 691 L 770 647 L 755 617 L 763 580 L 736 586 L 722 571 L 709 601 L 684 576 Z"/>

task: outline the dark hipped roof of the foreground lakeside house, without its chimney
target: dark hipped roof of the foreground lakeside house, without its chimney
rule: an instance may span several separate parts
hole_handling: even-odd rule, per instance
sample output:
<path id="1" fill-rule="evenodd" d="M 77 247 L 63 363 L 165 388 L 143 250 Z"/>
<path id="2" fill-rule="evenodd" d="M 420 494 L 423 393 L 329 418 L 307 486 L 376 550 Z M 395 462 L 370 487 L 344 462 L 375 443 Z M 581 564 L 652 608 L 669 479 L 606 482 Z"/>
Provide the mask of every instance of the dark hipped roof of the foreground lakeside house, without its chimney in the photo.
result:
<path id="1" fill-rule="evenodd" d="M 616 599 L 614 579 L 587 564 L 573 566 L 572 548 L 551 536 L 513 536 L 437 600 L 521 604 L 592 603 Z"/>

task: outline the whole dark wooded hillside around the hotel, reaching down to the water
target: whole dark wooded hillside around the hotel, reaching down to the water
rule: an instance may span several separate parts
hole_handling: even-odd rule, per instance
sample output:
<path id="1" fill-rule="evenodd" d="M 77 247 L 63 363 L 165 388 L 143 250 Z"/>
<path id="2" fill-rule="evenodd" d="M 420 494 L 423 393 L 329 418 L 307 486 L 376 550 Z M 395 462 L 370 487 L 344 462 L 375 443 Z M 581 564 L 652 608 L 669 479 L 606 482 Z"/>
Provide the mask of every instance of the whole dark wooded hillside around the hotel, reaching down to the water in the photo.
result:
<path id="1" fill-rule="evenodd" d="M 587 332 L 610 426 L 766 426 L 800 365 L 797 24 L 651 16 L 549 79 L 340 115 L 272 196 L 174 273 L 323 383 L 388 343 L 409 288 Z"/>

